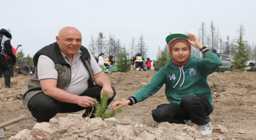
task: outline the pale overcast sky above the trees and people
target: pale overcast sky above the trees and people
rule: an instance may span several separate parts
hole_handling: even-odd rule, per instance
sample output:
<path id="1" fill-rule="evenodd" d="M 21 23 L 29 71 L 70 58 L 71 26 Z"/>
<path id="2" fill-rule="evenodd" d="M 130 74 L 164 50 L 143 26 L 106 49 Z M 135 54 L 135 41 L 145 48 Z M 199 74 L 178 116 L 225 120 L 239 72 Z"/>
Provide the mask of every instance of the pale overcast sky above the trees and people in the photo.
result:
<path id="1" fill-rule="evenodd" d="M 127 48 L 132 36 L 137 44 L 143 34 L 154 60 L 170 32 L 198 35 L 202 22 L 209 30 L 213 21 L 222 40 L 235 38 L 243 24 L 244 39 L 255 45 L 255 6 L 256 0 L 2 0 L 0 26 L 9 26 L 11 44 L 21 44 L 30 56 L 55 42 L 65 26 L 78 28 L 86 47 L 99 32 L 111 33 Z"/>

